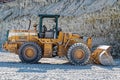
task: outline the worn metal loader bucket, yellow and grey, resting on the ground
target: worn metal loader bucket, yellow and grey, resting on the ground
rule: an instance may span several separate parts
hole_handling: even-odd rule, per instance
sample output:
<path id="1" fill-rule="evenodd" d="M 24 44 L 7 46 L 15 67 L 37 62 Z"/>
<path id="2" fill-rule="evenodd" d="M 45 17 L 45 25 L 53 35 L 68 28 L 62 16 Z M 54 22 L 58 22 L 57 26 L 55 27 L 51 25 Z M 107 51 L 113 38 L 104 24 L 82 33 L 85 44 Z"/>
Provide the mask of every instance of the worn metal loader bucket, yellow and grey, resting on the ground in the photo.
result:
<path id="1" fill-rule="evenodd" d="M 110 54 L 110 46 L 101 45 L 91 54 L 91 62 L 102 65 L 114 65 L 114 60 Z"/>

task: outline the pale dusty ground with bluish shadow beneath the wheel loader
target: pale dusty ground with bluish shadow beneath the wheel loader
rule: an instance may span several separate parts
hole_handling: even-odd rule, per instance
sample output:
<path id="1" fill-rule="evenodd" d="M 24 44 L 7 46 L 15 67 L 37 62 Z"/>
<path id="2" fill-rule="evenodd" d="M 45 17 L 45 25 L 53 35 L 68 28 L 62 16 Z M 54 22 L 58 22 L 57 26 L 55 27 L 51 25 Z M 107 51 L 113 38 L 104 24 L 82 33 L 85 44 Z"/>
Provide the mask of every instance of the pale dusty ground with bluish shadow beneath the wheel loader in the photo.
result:
<path id="1" fill-rule="evenodd" d="M 0 52 L 0 80 L 119 80 L 120 60 L 115 62 L 115 66 L 73 66 L 65 59 L 46 58 L 25 64 L 17 55 Z"/>

